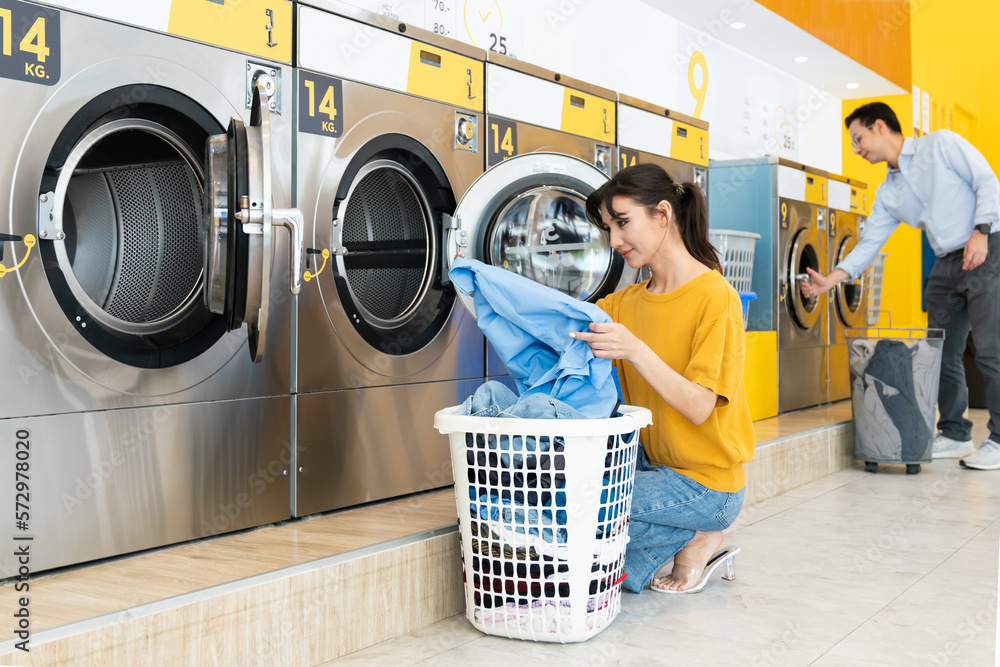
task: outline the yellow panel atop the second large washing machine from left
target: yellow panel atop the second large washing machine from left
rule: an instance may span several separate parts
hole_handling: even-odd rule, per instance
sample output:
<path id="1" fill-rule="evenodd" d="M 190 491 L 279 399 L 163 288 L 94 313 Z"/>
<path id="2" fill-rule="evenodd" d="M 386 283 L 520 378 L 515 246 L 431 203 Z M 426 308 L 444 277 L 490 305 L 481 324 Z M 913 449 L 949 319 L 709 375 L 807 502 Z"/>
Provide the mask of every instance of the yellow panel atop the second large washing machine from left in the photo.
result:
<path id="1" fill-rule="evenodd" d="M 483 111 L 484 64 L 420 42 L 410 46 L 406 92 Z"/>

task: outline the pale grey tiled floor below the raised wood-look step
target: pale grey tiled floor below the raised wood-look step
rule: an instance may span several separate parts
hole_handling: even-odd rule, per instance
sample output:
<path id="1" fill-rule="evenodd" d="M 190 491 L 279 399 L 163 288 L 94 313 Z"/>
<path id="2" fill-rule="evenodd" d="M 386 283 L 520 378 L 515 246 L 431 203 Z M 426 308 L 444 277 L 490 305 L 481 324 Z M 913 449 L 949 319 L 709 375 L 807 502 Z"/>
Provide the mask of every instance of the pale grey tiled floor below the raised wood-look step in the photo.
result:
<path id="1" fill-rule="evenodd" d="M 984 411 L 973 411 L 977 441 Z M 760 503 L 737 579 L 623 598 L 583 644 L 488 637 L 455 616 L 329 665 L 992 665 L 1000 472 L 857 465 Z"/>

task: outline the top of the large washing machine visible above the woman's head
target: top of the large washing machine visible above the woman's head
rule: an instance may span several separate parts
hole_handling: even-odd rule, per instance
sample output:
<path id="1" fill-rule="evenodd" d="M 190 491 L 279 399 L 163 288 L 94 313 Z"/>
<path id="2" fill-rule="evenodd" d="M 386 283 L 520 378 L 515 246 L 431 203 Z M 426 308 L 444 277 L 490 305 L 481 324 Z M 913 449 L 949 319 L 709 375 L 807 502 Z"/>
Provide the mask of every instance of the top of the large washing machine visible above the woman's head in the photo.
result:
<path id="1" fill-rule="evenodd" d="M 643 162 L 663 167 L 677 183 L 708 197 L 708 123 L 628 95 L 618 96 L 614 171 Z"/>

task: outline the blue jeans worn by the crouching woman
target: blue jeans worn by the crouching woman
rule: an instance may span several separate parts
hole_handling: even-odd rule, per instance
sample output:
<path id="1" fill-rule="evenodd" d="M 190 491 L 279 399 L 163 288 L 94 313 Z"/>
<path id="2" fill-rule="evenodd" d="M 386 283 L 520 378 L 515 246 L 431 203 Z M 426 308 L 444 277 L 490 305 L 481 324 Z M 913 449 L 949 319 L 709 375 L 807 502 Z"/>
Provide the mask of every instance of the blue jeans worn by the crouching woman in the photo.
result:
<path id="1" fill-rule="evenodd" d="M 743 507 L 743 491 L 724 493 L 667 466 L 654 466 L 639 447 L 622 587 L 641 593 L 653 574 L 691 541 L 696 531 L 723 530 Z"/>

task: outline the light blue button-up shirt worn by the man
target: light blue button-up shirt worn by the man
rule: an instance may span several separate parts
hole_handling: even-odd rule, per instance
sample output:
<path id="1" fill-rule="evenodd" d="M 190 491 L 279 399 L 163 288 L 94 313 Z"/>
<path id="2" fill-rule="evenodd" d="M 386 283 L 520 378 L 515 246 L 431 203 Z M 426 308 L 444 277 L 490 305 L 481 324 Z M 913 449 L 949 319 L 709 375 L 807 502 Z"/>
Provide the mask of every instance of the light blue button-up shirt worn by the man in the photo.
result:
<path id="1" fill-rule="evenodd" d="M 926 230 L 938 257 L 965 247 L 976 225 L 1000 231 L 1000 182 L 976 148 L 950 130 L 903 140 L 858 245 L 837 265 L 857 278 L 900 222 Z"/>

